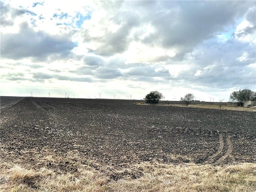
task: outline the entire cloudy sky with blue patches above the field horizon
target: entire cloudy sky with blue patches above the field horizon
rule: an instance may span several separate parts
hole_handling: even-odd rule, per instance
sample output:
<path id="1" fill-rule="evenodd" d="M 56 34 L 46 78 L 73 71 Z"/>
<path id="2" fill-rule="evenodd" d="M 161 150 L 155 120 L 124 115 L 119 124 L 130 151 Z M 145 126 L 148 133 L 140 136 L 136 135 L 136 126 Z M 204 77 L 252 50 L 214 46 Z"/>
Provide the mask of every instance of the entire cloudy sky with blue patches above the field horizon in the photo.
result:
<path id="1" fill-rule="evenodd" d="M 2 0 L 0 30 L 1 95 L 256 91 L 256 1 Z"/>

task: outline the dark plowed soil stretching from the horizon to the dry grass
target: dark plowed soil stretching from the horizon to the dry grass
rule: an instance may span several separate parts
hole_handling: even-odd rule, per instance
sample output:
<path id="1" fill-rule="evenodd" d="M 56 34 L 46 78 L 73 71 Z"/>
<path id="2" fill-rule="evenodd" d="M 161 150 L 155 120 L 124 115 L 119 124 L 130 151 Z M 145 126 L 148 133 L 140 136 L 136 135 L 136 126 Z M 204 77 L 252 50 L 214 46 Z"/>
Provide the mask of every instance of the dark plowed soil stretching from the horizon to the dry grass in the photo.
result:
<path id="1" fill-rule="evenodd" d="M 24 98 L 1 110 L 0 159 L 64 172 L 81 164 L 100 169 L 145 161 L 256 160 L 256 112 L 134 102 Z"/>

